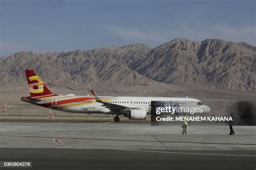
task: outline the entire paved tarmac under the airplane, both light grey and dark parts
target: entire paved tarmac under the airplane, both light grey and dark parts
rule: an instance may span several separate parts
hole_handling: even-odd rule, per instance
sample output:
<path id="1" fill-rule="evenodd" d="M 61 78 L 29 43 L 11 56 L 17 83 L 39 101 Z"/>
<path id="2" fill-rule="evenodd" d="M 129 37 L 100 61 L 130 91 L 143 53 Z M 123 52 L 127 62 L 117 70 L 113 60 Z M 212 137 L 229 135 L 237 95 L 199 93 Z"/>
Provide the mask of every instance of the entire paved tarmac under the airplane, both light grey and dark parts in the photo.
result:
<path id="1" fill-rule="evenodd" d="M 0 121 L 0 160 L 32 169 L 255 169 L 255 126 Z M 2 168 L 1 168 L 2 169 Z M 28 168 L 31 169 L 31 168 Z"/>

